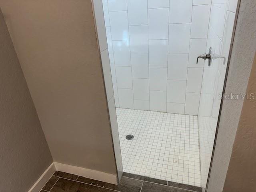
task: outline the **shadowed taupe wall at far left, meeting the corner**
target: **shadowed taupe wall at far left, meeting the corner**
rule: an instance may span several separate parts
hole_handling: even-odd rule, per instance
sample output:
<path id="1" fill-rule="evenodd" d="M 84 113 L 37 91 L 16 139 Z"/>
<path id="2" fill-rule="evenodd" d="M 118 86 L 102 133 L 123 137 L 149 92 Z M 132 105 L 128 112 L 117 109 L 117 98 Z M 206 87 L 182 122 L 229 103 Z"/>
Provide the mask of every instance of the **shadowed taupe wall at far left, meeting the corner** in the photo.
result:
<path id="1" fill-rule="evenodd" d="M 0 191 L 28 191 L 52 163 L 0 10 Z"/>

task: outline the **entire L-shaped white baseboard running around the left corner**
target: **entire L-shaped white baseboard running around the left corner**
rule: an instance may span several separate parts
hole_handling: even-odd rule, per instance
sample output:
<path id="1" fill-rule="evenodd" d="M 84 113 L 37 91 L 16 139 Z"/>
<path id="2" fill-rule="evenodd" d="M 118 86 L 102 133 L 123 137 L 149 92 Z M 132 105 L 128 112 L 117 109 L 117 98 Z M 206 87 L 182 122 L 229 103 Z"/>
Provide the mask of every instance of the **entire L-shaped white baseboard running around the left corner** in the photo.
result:
<path id="1" fill-rule="evenodd" d="M 107 183 L 117 184 L 117 176 L 109 173 L 104 173 L 96 170 L 76 167 L 72 165 L 53 162 L 30 188 L 28 192 L 40 192 L 46 182 L 51 178 L 55 171 L 62 171 L 70 174 L 83 176 L 86 178 L 103 181 Z"/>

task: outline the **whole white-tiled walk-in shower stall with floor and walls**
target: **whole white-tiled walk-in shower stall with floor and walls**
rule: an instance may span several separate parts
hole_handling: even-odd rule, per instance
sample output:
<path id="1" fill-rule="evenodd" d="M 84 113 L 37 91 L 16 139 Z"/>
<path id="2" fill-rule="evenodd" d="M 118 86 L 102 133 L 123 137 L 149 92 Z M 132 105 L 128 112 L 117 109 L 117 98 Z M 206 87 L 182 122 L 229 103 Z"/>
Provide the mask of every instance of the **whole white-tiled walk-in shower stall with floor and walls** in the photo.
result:
<path id="1" fill-rule="evenodd" d="M 102 0 L 124 172 L 206 187 L 237 2 Z"/>

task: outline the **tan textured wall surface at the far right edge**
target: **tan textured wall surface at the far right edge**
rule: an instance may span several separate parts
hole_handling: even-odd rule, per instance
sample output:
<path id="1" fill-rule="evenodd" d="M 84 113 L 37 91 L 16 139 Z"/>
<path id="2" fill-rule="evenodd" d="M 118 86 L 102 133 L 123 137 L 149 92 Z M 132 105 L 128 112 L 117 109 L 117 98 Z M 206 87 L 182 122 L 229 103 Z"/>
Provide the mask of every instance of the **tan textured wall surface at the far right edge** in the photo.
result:
<path id="1" fill-rule="evenodd" d="M 256 57 L 246 92 L 256 96 Z M 256 191 L 256 98 L 245 100 L 223 192 Z"/>

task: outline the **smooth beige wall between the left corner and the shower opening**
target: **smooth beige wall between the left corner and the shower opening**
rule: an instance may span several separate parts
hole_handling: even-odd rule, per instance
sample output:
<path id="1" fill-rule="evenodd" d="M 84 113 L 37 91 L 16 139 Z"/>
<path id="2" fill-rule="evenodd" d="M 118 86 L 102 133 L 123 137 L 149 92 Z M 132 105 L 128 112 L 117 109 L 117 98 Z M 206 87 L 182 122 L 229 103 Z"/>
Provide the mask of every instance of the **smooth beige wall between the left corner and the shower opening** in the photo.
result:
<path id="1" fill-rule="evenodd" d="M 56 162 L 116 174 L 90 0 L 0 0 Z"/>

